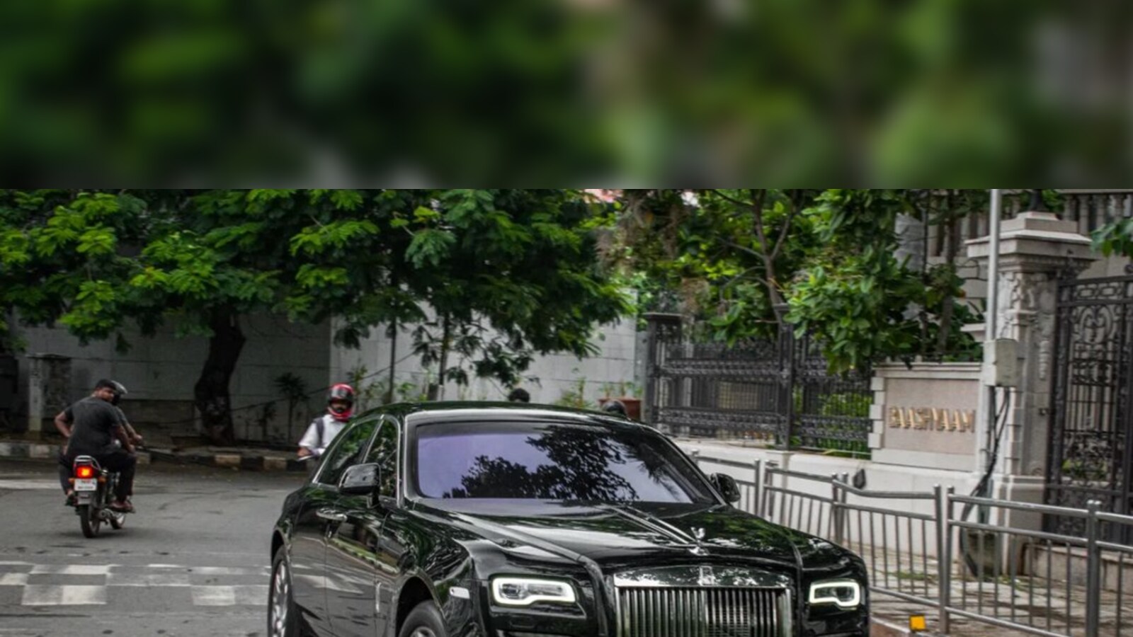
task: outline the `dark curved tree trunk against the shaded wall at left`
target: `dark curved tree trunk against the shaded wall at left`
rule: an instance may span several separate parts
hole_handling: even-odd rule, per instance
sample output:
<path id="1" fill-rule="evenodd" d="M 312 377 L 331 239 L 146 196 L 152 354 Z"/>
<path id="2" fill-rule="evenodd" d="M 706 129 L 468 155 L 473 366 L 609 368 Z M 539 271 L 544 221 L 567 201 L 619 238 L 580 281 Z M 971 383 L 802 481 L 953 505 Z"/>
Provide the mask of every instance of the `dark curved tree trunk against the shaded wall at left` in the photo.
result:
<path id="1" fill-rule="evenodd" d="M 213 444 L 231 444 L 236 442 L 236 431 L 232 426 L 232 400 L 228 385 L 247 339 L 231 312 L 216 312 L 210 326 L 213 336 L 208 339 L 205 366 L 193 388 L 194 404 L 201 413 L 208 441 Z"/>

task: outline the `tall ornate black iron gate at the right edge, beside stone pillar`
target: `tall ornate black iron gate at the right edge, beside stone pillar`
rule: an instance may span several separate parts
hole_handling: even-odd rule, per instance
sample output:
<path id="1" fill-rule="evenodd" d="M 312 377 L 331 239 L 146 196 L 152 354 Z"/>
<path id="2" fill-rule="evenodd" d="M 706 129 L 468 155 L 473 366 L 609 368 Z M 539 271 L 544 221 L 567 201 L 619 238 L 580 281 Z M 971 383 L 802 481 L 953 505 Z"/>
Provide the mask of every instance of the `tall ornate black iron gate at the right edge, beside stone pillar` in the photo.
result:
<path id="1" fill-rule="evenodd" d="M 1131 511 L 1133 277 L 1058 284 L 1046 501 Z M 1085 533 L 1083 520 L 1048 517 L 1048 530 Z"/>

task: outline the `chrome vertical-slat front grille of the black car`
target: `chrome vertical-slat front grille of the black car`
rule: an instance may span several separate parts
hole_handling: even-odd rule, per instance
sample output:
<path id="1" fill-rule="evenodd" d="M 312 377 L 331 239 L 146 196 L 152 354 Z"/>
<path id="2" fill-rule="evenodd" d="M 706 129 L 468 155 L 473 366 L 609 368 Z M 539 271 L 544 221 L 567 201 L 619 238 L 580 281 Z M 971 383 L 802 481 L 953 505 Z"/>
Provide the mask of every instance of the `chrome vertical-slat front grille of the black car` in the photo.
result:
<path id="1" fill-rule="evenodd" d="M 784 637 L 786 588 L 619 587 L 619 637 Z"/>

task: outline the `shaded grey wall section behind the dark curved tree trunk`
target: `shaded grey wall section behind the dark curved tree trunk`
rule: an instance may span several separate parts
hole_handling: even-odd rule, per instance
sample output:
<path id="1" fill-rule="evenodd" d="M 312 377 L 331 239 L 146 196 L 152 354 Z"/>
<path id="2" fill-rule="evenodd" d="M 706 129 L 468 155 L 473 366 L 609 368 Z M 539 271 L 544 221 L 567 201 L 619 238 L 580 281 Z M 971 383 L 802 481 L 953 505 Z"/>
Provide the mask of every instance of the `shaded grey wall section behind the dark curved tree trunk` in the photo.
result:
<path id="1" fill-rule="evenodd" d="M 275 316 L 250 316 L 245 318 L 242 328 L 248 340 L 230 385 L 237 438 L 262 438 L 259 419 L 264 411 L 255 406 L 281 398 L 273 385 L 274 379 L 290 372 L 303 379 L 315 396 L 309 407 L 300 406 L 290 433 L 286 422 L 287 404 L 275 404 L 275 414 L 267 419 L 269 439 L 298 440 L 300 427 L 309 421 L 309 410 L 321 409 L 321 390 L 327 377 L 330 326 L 297 325 Z M 27 411 L 27 355 L 56 354 L 73 358 L 71 383 L 67 388 L 70 400 L 88 394 L 95 381 L 109 376 L 129 390 L 122 408 L 131 422 L 143 428 L 163 425 L 185 433 L 198 431 L 191 406 L 193 385 L 207 354 L 207 339 L 177 338 L 171 328 L 162 329 L 152 338 L 127 332 L 131 347 L 126 353 L 118 353 L 113 340 L 84 347 L 58 328 L 22 328 L 20 336 L 27 341 L 25 355 L 18 357 L 20 414 Z"/>

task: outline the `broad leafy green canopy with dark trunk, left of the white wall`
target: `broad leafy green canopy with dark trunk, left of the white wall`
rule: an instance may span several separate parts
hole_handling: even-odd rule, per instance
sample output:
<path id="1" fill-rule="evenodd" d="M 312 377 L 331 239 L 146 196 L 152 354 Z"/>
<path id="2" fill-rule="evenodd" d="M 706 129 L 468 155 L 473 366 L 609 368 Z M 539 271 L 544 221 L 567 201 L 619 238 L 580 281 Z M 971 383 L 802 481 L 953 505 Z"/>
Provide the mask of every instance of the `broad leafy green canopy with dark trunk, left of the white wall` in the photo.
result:
<path id="1" fill-rule="evenodd" d="M 457 382 L 512 384 L 533 353 L 588 354 L 593 325 L 624 309 L 591 216 L 572 190 L 7 190 L 0 304 L 83 342 L 125 348 L 127 326 L 167 323 L 207 337 L 194 391 L 223 441 L 249 314 L 334 316 L 347 346 L 421 323 L 423 362 Z"/>

